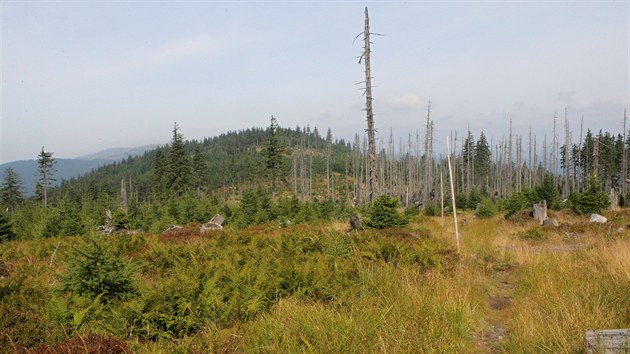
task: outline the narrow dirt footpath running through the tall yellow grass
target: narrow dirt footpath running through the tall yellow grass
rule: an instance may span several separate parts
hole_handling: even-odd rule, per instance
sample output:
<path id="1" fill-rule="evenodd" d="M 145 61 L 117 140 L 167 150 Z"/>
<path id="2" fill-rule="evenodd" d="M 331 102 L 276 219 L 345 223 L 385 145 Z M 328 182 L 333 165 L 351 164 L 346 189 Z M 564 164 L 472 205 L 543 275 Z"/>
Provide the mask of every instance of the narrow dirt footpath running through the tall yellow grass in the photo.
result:
<path id="1" fill-rule="evenodd" d="M 485 331 L 479 333 L 478 353 L 498 353 L 508 338 L 506 323 L 510 318 L 512 297 L 516 287 L 515 266 L 505 266 L 492 274 L 492 285 L 487 296 L 489 312 Z"/>

